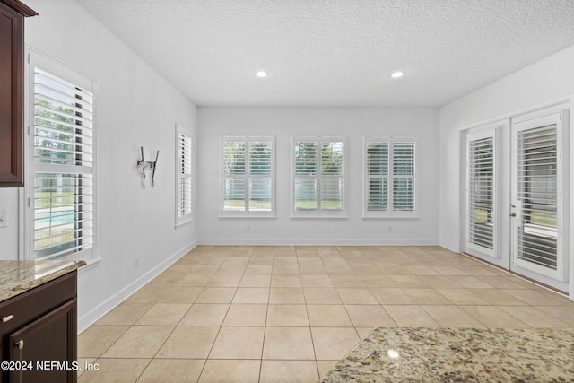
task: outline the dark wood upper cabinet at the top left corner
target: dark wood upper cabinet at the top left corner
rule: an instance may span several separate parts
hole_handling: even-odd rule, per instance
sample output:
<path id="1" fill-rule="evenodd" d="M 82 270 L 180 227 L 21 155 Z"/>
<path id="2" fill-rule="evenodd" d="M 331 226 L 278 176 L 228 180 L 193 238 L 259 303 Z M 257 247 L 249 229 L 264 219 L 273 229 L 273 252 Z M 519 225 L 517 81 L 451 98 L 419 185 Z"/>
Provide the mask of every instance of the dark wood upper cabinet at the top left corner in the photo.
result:
<path id="1" fill-rule="evenodd" d="M 24 186 L 24 17 L 37 14 L 0 0 L 0 187 Z"/>

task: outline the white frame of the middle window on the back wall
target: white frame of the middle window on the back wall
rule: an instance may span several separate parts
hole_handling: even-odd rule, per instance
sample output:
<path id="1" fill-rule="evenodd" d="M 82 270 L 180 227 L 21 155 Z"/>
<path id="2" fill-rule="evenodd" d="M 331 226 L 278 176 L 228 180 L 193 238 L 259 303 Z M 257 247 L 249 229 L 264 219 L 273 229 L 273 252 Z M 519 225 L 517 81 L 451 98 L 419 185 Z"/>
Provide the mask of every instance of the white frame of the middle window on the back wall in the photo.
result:
<path id="1" fill-rule="evenodd" d="M 298 143 L 317 143 L 317 174 L 316 175 L 297 175 L 296 171 L 296 146 Z M 341 174 L 326 175 L 322 174 L 322 147 L 325 143 L 343 144 L 343 161 Z M 342 135 L 292 135 L 291 136 L 291 219 L 334 219 L 345 220 L 348 219 L 348 203 L 347 203 L 347 157 L 348 157 L 348 144 L 347 137 Z M 296 179 L 297 178 L 316 178 L 317 179 L 317 210 L 301 211 L 296 210 Z M 321 209 L 321 192 L 322 180 L 328 178 L 342 178 L 343 188 L 343 209 L 341 210 L 326 210 Z"/>

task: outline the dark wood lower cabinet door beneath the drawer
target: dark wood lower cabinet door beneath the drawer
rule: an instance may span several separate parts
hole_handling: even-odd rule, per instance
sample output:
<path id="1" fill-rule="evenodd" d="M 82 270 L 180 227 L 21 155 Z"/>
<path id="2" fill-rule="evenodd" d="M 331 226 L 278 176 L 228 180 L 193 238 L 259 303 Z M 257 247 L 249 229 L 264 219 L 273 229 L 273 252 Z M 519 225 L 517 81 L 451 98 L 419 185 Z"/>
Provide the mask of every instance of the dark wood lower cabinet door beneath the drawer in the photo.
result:
<path id="1" fill-rule="evenodd" d="M 77 380 L 76 299 L 9 335 L 10 360 L 32 363 L 11 371 L 11 382 L 60 383 Z"/>

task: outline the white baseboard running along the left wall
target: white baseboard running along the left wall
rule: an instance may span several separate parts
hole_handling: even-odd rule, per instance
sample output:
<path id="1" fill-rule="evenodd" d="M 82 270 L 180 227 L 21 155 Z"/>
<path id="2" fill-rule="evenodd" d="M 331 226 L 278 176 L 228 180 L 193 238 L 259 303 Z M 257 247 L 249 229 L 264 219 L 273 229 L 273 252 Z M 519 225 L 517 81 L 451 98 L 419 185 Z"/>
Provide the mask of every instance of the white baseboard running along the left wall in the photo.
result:
<path id="1" fill-rule="evenodd" d="M 101 317 L 109 313 L 110 310 L 114 309 L 118 304 L 129 298 L 132 294 L 141 289 L 146 283 L 152 281 L 153 278 L 165 271 L 170 265 L 173 265 L 178 261 L 179 258 L 185 256 L 187 252 L 196 248 L 197 241 L 194 241 L 184 248 L 181 248 L 173 254 L 172 256 L 165 259 L 161 264 L 156 265 L 149 272 L 143 274 L 133 283 L 128 284 L 125 288 L 117 292 L 116 294 L 109 297 L 109 299 L 104 300 L 100 305 L 91 309 L 89 312 L 85 313 L 82 317 L 78 317 L 78 334 L 82 333 L 83 330 L 93 325 Z M 82 269 L 80 269 L 82 270 Z M 89 271 L 88 271 L 89 273 Z M 82 278 L 82 274 L 78 274 L 78 279 Z M 78 282 L 80 282 L 78 280 Z"/>

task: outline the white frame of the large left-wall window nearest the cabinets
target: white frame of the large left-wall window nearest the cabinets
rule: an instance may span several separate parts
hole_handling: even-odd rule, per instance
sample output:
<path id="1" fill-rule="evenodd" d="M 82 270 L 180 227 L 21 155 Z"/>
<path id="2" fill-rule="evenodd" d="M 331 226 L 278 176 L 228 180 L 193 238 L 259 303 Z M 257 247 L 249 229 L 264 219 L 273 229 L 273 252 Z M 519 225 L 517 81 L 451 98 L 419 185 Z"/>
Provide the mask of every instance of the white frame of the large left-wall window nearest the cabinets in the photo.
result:
<path id="1" fill-rule="evenodd" d="M 73 84 L 75 88 L 77 88 L 80 92 L 87 92 L 91 93 L 89 96 L 91 97 L 91 126 L 84 126 L 84 128 L 91 130 L 91 136 L 84 135 L 83 133 L 78 133 L 77 131 L 74 134 L 77 134 L 77 137 L 83 138 L 89 137 L 91 141 L 91 152 L 86 152 L 88 154 L 88 162 L 91 162 L 91 166 L 86 166 L 83 158 L 75 158 L 75 161 L 81 161 L 82 164 L 44 164 L 44 163 L 36 163 L 35 160 L 35 140 L 36 140 L 36 129 L 35 129 L 35 121 L 36 121 L 36 108 L 35 108 L 35 99 L 36 99 L 36 68 L 41 68 L 41 71 L 45 71 L 48 75 L 56 76 L 57 78 L 63 80 L 65 83 Z M 48 57 L 35 49 L 28 48 L 27 50 L 27 60 L 26 60 L 26 108 L 25 108 L 25 121 L 26 121 L 26 135 L 25 135 L 25 158 L 26 158 L 26 186 L 22 190 L 22 252 L 21 252 L 21 259 L 26 260 L 84 260 L 88 263 L 92 263 L 98 260 L 97 257 L 97 233 L 98 233 L 98 217 L 97 217 L 97 205 L 98 205 L 98 187 L 97 187 L 97 179 L 98 179 L 98 144 L 97 144 L 97 93 L 98 93 L 98 83 L 91 79 L 89 76 L 77 71 L 73 67 L 66 65 L 65 63 L 60 62 L 59 60 Z M 79 99 L 82 100 L 82 99 Z M 89 109 L 86 109 L 90 111 Z M 77 120 L 84 119 L 83 116 L 76 118 Z M 82 125 L 80 125 L 82 126 Z M 82 129 L 83 130 L 83 129 Z M 75 144 L 76 146 L 85 146 L 86 143 L 83 141 L 79 141 L 79 144 Z M 76 149 L 77 150 L 77 149 Z M 82 153 L 82 151 L 81 151 Z M 57 169 L 57 167 L 60 169 Z M 87 170 L 90 171 L 87 171 Z M 80 237 L 74 237 L 75 239 L 83 240 L 86 238 L 90 238 L 91 240 L 87 242 L 87 244 L 80 243 L 79 245 L 74 246 L 71 248 L 70 253 L 64 253 L 62 256 L 59 257 L 51 257 L 48 255 L 47 257 L 38 257 L 36 246 L 35 246 L 35 237 L 37 230 L 36 227 L 36 214 L 35 214 L 35 185 L 36 185 L 36 173 L 57 173 L 57 174 L 76 174 L 76 175 L 87 175 L 85 179 L 89 179 L 89 183 L 86 185 L 80 185 L 80 189 L 91 189 L 91 194 L 81 194 L 80 195 L 80 202 L 74 202 L 74 206 L 76 205 L 83 205 L 88 204 L 91 205 L 91 211 L 83 211 L 81 210 L 81 214 L 86 215 L 86 217 L 82 217 L 83 221 L 86 221 L 84 218 L 87 218 L 87 221 L 91 221 L 91 225 L 85 226 L 85 223 L 82 222 L 82 226 L 76 227 L 74 231 L 89 231 L 91 234 L 89 235 L 82 235 Z M 90 185 L 91 184 L 91 185 Z M 75 187 L 78 187 L 77 185 Z M 58 198 L 58 197 L 57 197 Z M 77 196 L 75 196 L 77 198 Z M 74 214 L 77 211 L 74 207 Z M 77 219 L 77 218 L 76 218 Z M 63 242 L 65 243 L 65 242 Z M 57 254 L 57 252 L 55 252 Z"/>

